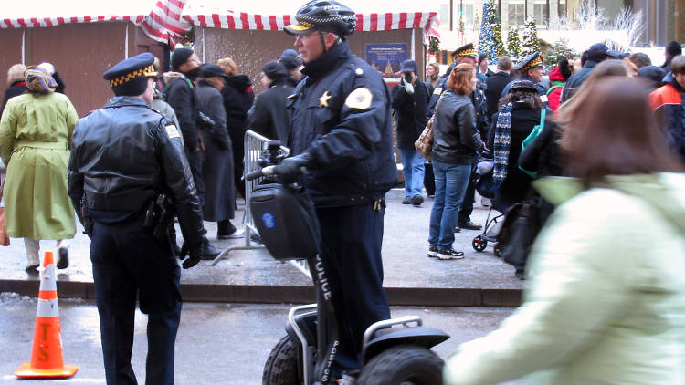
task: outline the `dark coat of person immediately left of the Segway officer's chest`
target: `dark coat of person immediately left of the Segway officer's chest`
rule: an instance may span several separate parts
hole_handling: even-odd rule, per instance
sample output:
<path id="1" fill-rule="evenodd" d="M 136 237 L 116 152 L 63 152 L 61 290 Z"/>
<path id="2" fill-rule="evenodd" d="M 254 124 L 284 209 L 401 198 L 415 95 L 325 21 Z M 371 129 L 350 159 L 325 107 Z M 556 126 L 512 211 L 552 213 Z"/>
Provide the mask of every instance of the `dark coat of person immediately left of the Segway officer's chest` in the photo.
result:
<path id="1" fill-rule="evenodd" d="M 267 90 L 259 94 L 255 105 L 249 109 L 248 130 L 285 144 L 290 134 L 290 116 L 285 105 L 294 89 L 287 78 L 274 80 Z"/>

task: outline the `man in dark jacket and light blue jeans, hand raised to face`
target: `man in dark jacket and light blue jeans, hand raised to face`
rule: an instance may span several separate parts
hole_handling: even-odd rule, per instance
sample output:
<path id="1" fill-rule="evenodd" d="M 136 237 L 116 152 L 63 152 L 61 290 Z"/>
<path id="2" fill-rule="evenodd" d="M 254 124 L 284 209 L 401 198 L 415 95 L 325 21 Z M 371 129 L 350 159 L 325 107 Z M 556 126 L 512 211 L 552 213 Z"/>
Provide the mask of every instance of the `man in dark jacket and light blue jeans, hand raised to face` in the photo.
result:
<path id="1" fill-rule="evenodd" d="M 414 142 L 426 127 L 426 110 L 430 94 L 426 84 L 418 79 L 418 66 L 414 60 L 405 60 L 400 66 L 402 80 L 392 89 L 392 106 L 397 120 L 397 147 L 402 156 L 402 173 L 405 176 L 405 199 L 402 204 L 419 207 L 424 202 L 421 192 L 424 184 L 424 162 Z"/>

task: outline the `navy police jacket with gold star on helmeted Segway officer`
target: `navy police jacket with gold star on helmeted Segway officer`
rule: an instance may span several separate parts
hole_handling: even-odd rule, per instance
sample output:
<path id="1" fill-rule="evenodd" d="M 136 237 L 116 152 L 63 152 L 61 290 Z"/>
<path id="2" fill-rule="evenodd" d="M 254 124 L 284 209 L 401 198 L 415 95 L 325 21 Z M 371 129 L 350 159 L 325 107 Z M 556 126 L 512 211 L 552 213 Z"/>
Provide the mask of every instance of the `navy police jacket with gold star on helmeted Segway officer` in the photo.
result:
<path id="1" fill-rule="evenodd" d="M 319 207 L 371 203 L 396 181 L 390 97 L 377 70 L 347 42 L 307 63 L 288 99 L 289 146 L 311 157 L 303 176 Z"/>

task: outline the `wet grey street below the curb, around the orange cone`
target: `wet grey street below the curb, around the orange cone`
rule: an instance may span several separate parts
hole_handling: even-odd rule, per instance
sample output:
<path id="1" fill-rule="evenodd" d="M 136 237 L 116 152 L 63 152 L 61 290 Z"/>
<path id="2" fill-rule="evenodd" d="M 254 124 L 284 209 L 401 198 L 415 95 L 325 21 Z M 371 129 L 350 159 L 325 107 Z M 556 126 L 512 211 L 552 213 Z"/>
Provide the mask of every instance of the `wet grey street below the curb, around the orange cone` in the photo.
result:
<path id="1" fill-rule="evenodd" d="M 269 350 L 283 337 L 289 305 L 185 303 L 176 339 L 175 383 L 258 385 Z M 37 299 L 0 294 L 0 384 L 15 384 L 15 370 L 31 357 Z M 435 348 L 448 357 L 458 344 L 497 328 L 511 308 L 393 307 L 393 317 L 419 315 L 424 325 L 451 335 Z M 21 384 L 104 384 L 98 310 L 92 301 L 59 299 L 69 380 L 21 380 Z M 136 312 L 132 365 L 144 383 L 146 316 Z M 511 382 L 513 384 L 515 382 Z"/>

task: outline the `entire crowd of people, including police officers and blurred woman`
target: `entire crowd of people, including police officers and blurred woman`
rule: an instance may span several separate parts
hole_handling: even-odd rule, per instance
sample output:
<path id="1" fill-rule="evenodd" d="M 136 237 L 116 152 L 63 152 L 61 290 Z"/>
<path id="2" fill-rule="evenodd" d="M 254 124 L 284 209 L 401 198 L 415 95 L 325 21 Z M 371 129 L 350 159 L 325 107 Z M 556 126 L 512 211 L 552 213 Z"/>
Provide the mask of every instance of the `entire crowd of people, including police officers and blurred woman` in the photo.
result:
<path id="1" fill-rule="evenodd" d="M 342 333 L 333 375 L 358 373 L 364 329 L 390 317 L 381 245 L 385 192 L 396 182 L 393 121 L 402 203 L 421 207 L 424 193 L 434 197 L 427 256 L 464 257 L 454 233 L 482 228 L 470 219 L 480 179 L 491 180 L 493 210 L 535 198 L 546 224 L 524 245 L 530 263 L 516 265 L 516 276 L 531 280 L 522 307 L 500 330 L 460 346 L 446 383 L 543 370 L 550 383 L 591 383 L 627 365 L 638 369 L 612 371 L 612 383 L 682 380 L 680 44 L 669 44 L 660 67 L 597 43 L 580 66 L 564 57 L 549 71 L 540 52 L 518 63 L 498 57 L 492 71 L 467 44 L 442 76 L 429 63 L 422 81 L 406 60 L 399 84 L 387 88 L 348 47 L 353 11 L 329 3 L 304 5 L 284 28 L 297 50 L 263 65 L 257 98 L 232 58 L 201 63 L 177 47 L 165 73 L 149 53 L 108 69 L 114 97 L 79 120 L 52 64 L 9 68 L 0 109 L 7 234 L 24 238 L 27 271 L 40 264 L 39 241 L 56 240 L 63 269 L 79 218 L 91 239 L 108 383 L 135 383 L 136 297 L 150 316 L 148 382 L 173 383 L 176 257 L 187 254 L 190 268 L 219 254 L 203 221 L 216 222 L 217 239 L 241 236 L 231 221 L 245 192 L 247 130 L 290 147 L 277 172 L 311 197 L 336 294 Z M 415 142 L 429 121 L 426 159 Z"/>

